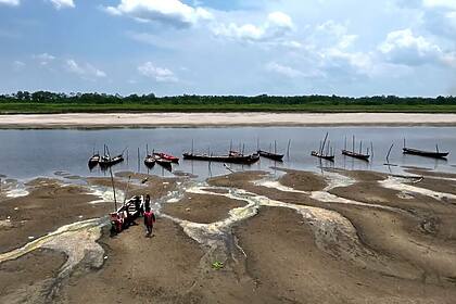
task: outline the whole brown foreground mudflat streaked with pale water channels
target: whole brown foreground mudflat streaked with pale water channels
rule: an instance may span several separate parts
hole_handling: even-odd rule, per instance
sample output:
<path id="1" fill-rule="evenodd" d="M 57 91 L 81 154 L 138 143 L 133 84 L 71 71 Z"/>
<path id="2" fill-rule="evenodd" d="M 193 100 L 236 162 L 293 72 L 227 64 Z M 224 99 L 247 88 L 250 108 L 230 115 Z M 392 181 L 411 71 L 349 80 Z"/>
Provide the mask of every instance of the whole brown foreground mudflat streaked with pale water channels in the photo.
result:
<path id="1" fill-rule="evenodd" d="M 0 197 L 0 302 L 454 303 L 456 181 L 410 173 L 425 179 L 117 174 L 160 206 L 150 239 L 141 218 L 117 236 L 90 221 L 112 208 L 107 178 L 36 179 L 27 195 Z"/>

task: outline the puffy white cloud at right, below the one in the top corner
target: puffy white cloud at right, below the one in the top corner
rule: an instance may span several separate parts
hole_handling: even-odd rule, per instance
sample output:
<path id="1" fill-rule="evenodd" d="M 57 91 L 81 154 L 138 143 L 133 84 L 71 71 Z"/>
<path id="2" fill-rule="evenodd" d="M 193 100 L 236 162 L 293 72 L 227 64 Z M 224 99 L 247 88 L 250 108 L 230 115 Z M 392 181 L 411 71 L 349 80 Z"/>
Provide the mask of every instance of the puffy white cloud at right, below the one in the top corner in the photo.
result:
<path id="1" fill-rule="evenodd" d="M 388 61 L 405 65 L 432 63 L 443 55 L 439 46 L 423 36 L 415 36 L 409 28 L 388 34 L 385 41 L 379 46 L 379 50 Z"/>

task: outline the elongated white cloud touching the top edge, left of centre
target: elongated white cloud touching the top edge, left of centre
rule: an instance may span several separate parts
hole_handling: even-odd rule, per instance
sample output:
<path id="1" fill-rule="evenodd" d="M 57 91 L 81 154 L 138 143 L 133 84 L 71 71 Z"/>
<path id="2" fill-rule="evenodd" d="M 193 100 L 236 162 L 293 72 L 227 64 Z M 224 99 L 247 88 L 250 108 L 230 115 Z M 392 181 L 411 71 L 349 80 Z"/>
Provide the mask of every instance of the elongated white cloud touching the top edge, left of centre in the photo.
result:
<path id="1" fill-rule="evenodd" d="M 126 15 L 140 22 L 157 22 L 174 27 L 190 27 L 212 14 L 203 8 L 193 8 L 179 0 L 122 0 L 117 7 L 107 7 L 112 15 Z"/>

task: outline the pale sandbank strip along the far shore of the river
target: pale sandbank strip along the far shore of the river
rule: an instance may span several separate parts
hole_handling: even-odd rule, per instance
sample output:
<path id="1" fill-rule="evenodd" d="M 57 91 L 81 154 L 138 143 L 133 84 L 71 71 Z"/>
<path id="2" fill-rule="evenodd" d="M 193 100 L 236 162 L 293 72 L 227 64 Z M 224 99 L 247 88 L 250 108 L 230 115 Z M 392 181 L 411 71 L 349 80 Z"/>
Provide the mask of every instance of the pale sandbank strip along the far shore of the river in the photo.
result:
<path id="1" fill-rule="evenodd" d="M 456 114 L 130 113 L 0 115 L 0 128 L 199 126 L 456 126 Z"/>

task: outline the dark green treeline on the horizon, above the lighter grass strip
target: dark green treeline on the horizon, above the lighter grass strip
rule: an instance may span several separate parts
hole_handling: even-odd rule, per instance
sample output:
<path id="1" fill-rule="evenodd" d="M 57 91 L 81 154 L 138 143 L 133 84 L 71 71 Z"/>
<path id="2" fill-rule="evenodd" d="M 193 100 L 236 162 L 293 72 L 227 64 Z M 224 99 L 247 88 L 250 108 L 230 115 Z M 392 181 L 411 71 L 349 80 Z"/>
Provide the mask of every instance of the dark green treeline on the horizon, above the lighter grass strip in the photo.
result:
<path id="1" fill-rule="evenodd" d="M 354 105 L 382 105 L 382 104 L 456 104 L 456 97 L 420 98 L 395 96 L 373 96 L 373 97 L 338 97 L 338 96 L 299 96 L 299 97 L 277 97 L 277 96 L 176 96 L 176 97 L 155 97 L 155 94 L 105 94 L 105 93 L 55 93 L 49 91 L 18 91 L 13 94 L 0 94 L 1 103 L 66 103 L 66 104 L 354 104 Z"/>

